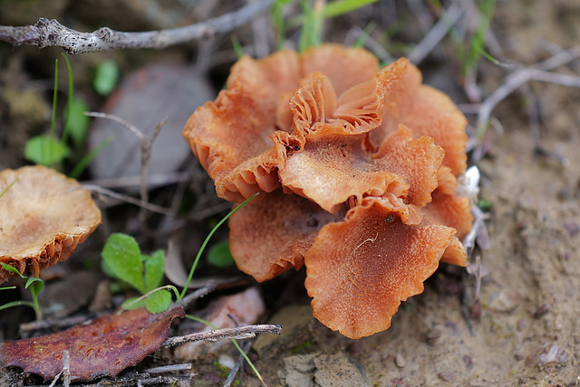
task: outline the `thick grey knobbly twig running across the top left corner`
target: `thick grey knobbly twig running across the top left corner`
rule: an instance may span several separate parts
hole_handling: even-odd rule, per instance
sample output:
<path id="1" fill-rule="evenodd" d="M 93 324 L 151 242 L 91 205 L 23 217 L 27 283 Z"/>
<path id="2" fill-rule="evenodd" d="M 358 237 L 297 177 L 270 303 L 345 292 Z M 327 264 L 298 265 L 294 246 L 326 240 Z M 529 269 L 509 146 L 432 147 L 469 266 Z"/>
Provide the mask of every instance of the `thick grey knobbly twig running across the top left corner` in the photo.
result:
<path id="1" fill-rule="evenodd" d="M 204 23 L 143 33 L 124 33 L 108 27 L 102 27 L 92 33 L 81 33 L 54 19 L 41 17 L 34 25 L 19 27 L 0 25 L 0 41 L 9 42 L 14 46 L 26 44 L 39 48 L 63 47 L 64 51 L 70 54 L 137 48 L 160 50 L 170 45 L 208 39 L 232 31 L 273 3 L 274 0 L 263 0 Z"/>

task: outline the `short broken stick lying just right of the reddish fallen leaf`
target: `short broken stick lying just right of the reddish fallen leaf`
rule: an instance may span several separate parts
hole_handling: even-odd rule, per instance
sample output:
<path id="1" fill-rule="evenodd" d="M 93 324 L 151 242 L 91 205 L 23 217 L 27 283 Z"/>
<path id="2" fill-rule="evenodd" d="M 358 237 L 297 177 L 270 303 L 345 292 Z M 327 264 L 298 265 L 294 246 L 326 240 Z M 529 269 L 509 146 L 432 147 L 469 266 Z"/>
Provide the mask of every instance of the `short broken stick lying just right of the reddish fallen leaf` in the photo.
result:
<path id="1" fill-rule="evenodd" d="M 169 337 L 161 347 L 183 345 L 196 341 L 218 341 L 226 339 L 247 339 L 256 337 L 256 334 L 277 334 L 282 332 L 282 326 L 262 324 L 256 326 L 235 326 L 233 328 L 216 329 L 209 332 L 198 332 L 191 335 Z"/>

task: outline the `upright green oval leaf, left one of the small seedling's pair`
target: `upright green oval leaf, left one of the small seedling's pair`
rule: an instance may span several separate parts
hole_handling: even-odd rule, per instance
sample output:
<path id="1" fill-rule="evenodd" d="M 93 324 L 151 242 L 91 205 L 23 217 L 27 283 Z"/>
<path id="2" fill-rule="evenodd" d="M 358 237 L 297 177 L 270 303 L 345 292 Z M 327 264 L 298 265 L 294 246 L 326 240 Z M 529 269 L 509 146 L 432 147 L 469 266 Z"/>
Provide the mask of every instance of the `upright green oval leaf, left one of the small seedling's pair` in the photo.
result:
<path id="1" fill-rule="evenodd" d="M 112 234 L 102 248 L 102 260 L 119 278 L 146 293 L 139 245 L 127 234 Z"/>

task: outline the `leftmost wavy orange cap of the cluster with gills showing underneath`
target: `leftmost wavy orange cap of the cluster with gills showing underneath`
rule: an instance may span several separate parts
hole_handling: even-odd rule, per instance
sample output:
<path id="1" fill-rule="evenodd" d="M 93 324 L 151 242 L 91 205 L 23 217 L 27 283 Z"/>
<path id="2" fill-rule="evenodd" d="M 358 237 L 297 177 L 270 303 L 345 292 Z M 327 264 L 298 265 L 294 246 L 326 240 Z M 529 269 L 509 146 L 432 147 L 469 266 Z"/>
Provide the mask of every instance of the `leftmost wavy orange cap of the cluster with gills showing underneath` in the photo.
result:
<path id="1" fill-rule="evenodd" d="M 227 90 L 199 107 L 183 128 L 218 196 L 242 202 L 279 186 L 277 168 L 285 147 L 275 144 L 278 98 L 298 87 L 298 55 L 280 51 L 263 60 L 243 57 L 232 68 Z"/>

